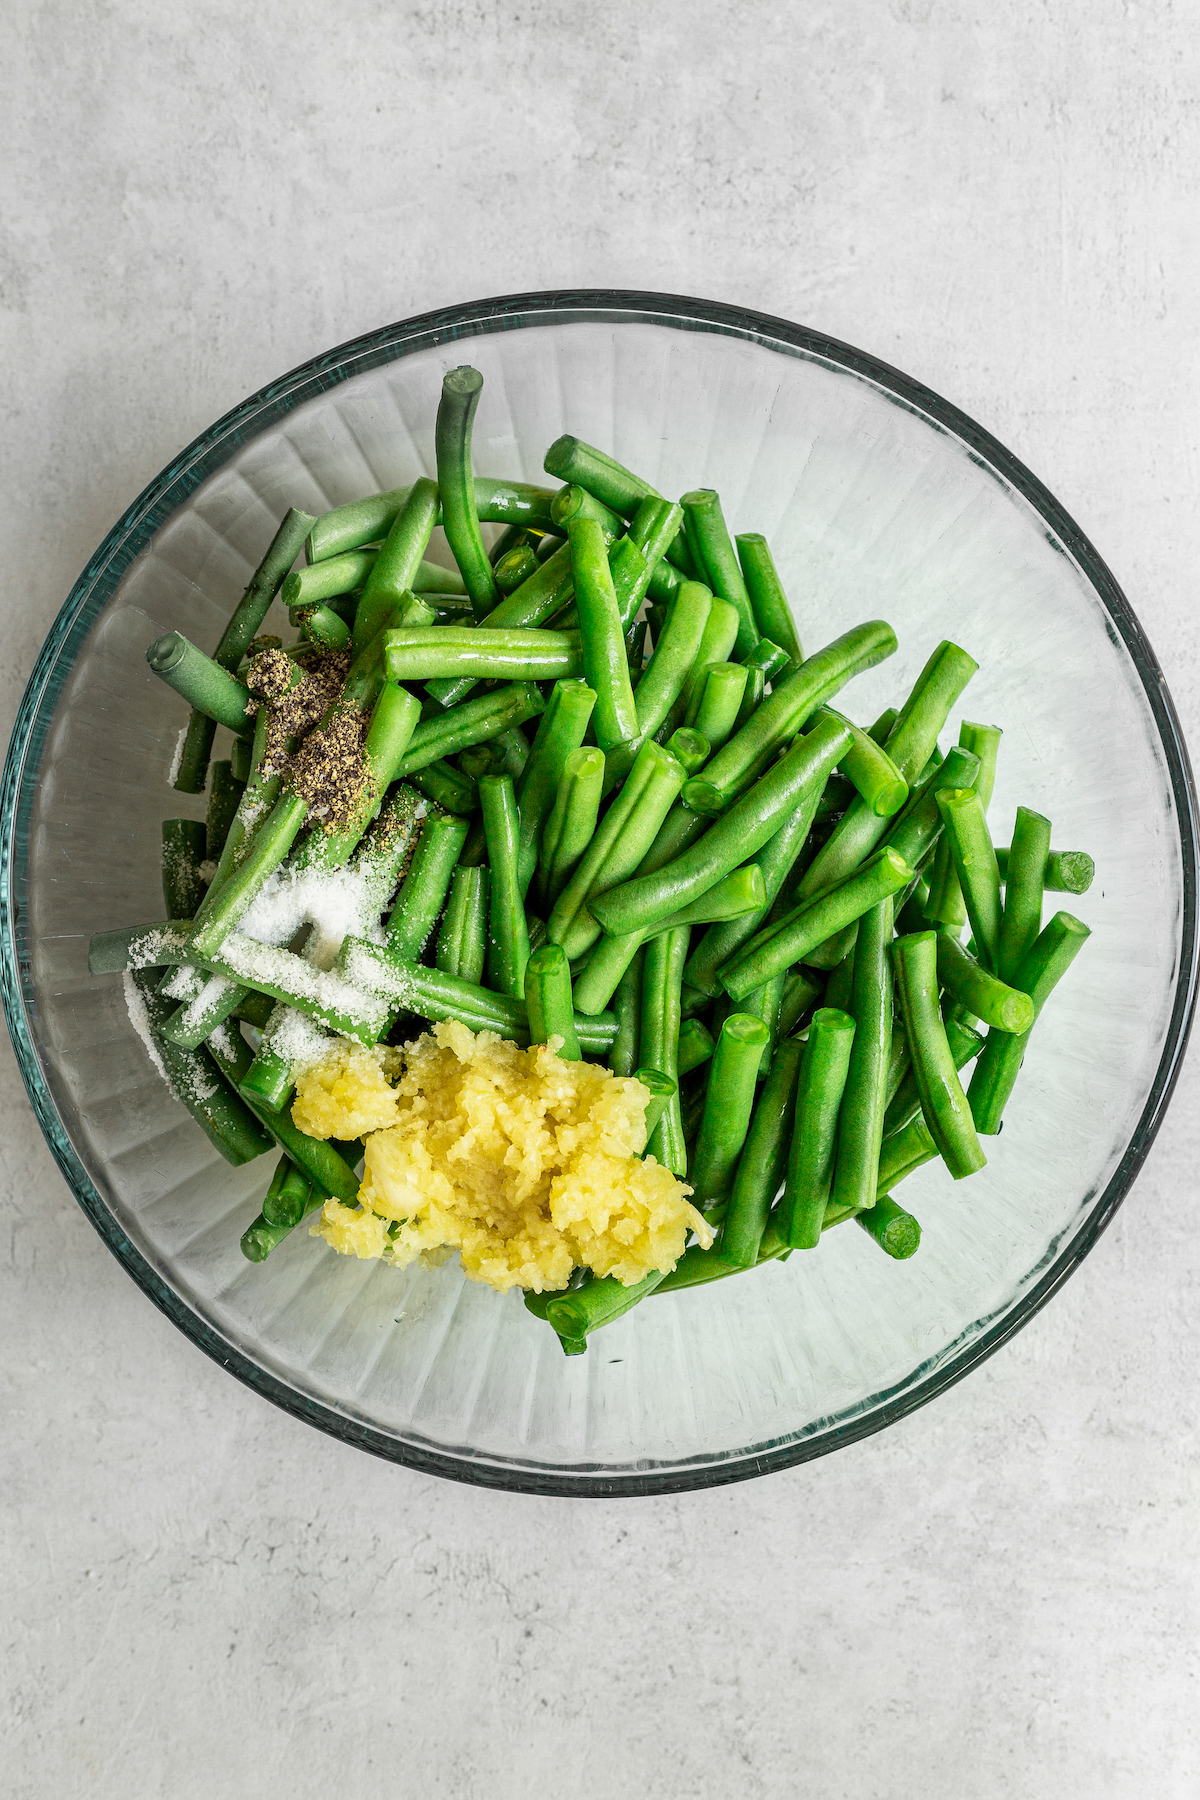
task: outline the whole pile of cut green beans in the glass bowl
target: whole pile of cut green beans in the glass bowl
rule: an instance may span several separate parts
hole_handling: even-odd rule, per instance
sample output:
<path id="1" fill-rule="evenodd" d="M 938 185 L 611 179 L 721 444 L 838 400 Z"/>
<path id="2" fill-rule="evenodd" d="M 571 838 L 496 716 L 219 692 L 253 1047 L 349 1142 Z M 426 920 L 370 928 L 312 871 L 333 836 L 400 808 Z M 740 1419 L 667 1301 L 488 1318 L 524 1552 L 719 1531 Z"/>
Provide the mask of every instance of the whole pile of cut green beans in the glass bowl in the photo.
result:
<path id="1" fill-rule="evenodd" d="M 133 970 L 139 1022 L 228 1161 L 282 1150 L 252 1262 L 358 1192 L 360 1145 L 291 1120 L 297 1013 L 360 1044 L 455 1019 L 640 1080 L 642 1154 L 705 1224 L 633 1287 L 583 1271 L 527 1296 L 574 1355 L 644 1298 L 815 1249 L 844 1219 L 910 1256 L 921 1228 L 892 1190 L 932 1161 L 984 1168 L 1088 936 L 1043 923 L 1045 895 L 1085 893 L 1094 866 L 1031 806 L 993 841 L 1002 731 L 952 722 L 968 650 L 937 644 L 855 722 L 842 689 L 898 648 L 887 621 L 806 655 L 761 533 L 579 437 L 545 455 L 563 486 L 475 473 L 482 387 L 444 376 L 435 479 L 290 509 L 212 655 L 182 632 L 148 648 L 191 707 L 175 787 L 207 796 L 162 824 L 167 918 L 99 932 L 90 967 Z M 313 657 L 349 664 L 318 729 L 360 720 L 362 783 L 331 828 L 268 756 L 282 700 L 259 700 L 248 659 L 277 598 L 300 632 L 284 688 Z M 340 950 L 239 929 L 281 869 L 356 878 Z"/>

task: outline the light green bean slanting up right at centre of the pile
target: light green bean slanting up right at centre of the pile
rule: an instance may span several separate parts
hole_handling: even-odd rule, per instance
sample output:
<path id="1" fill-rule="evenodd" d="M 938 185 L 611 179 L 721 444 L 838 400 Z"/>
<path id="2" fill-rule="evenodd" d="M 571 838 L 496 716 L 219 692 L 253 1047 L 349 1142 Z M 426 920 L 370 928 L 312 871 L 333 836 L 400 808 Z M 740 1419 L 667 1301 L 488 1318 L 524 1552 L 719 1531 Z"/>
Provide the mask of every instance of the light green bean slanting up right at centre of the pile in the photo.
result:
<path id="1" fill-rule="evenodd" d="M 628 781 L 604 814 L 547 922 L 551 941 L 561 943 L 570 961 L 583 956 L 601 934 L 592 904 L 624 882 L 639 866 L 682 783 L 684 770 L 667 751 L 653 740 L 640 747 Z M 678 905 L 669 911 L 678 911 Z M 655 1062 L 655 1067 L 662 1064 Z"/>

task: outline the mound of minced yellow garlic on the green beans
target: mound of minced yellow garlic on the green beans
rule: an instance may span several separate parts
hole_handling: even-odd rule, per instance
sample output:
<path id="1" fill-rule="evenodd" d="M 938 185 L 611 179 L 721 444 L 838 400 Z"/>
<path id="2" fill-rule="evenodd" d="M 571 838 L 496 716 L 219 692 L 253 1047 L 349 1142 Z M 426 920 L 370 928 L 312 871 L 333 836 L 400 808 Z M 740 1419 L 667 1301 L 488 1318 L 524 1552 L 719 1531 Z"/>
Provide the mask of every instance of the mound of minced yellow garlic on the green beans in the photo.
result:
<path id="1" fill-rule="evenodd" d="M 689 1231 L 709 1244 L 691 1190 L 639 1156 L 642 1084 L 563 1062 L 556 1046 L 444 1022 L 408 1046 L 396 1087 L 387 1051 L 342 1044 L 304 1069 L 297 1125 L 367 1134 L 360 1206 L 329 1201 L 313 1235 L 401 1265 L 457 1249 L 464 1273 L 500 1292 L 561 1289 L 576 1265 L 631 1285 L 673 1269 Z"/>

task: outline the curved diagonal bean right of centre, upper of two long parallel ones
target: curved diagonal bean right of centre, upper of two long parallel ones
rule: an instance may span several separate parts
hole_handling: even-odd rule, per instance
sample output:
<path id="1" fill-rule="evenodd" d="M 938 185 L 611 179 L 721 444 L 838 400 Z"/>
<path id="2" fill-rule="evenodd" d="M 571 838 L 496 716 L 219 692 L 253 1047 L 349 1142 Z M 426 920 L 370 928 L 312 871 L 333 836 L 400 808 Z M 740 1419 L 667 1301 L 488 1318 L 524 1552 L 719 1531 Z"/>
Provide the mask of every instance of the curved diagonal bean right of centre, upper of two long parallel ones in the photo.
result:
<path id="1" fill-rule="evenodd" d="M 774 689 L 741 731 L 716 752 L 703 774 L 693 776 L 684 794 L 687 805 L 696 812 L 723 812 L 819 706 L 831 700 L 853 675 L 889 657 L 894 648 L 896 634 L 891 625 L 874 619 L 869 625 L 856 625 L 819 650 Z"/>

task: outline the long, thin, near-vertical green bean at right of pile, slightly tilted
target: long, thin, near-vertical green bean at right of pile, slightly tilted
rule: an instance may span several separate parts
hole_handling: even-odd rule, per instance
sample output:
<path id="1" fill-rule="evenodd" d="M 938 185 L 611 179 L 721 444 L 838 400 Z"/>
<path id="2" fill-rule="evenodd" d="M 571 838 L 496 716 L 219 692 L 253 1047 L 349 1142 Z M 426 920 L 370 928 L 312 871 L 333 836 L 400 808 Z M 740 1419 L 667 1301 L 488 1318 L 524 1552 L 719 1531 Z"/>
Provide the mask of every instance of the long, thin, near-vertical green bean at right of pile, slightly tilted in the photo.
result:
<path id="1" fill-rule="evenodd" d="M 887 1062 L 892 1046 L 892 900 L 873 905 L 858 922 L 851 1017 L 855 1044 L 838 1116 L 838 1143 L 829 1202 L 860 1211 L 874 1206 Z"/>

